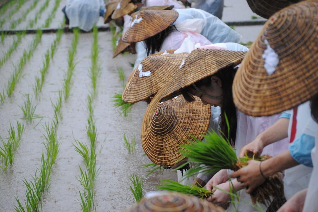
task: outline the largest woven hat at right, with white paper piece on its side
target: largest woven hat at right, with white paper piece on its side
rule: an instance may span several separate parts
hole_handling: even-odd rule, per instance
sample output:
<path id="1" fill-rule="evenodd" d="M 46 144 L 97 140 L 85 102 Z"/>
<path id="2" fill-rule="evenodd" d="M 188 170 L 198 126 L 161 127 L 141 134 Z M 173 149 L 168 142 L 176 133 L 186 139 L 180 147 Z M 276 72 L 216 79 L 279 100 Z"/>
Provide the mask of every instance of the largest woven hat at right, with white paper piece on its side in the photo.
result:
<path id="1" fill-rule="evenodd" d="M 317 26 L 318 2 L 313 0 L 280 10 L 266 22 L 234 78 L 239 110 L 268 116 L 318 92 Z M 272 63 L 266 61 L 270 56 Z"/>

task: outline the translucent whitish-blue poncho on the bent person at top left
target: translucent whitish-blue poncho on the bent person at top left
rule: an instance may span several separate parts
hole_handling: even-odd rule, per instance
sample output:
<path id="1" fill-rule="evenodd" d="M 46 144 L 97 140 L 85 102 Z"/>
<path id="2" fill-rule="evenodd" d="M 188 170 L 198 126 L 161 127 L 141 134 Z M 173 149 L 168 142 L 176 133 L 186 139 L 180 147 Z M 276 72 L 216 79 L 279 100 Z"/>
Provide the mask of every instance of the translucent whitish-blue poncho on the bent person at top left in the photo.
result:
<path id="1" fill-rule="evenodd" d="M 84 31 L 93 29 L 98 22 L 100 10 L 105 8 L 102 0 L 67 0 L 66 15 L 70 19 L 69 28 L 79 27 Z"/>

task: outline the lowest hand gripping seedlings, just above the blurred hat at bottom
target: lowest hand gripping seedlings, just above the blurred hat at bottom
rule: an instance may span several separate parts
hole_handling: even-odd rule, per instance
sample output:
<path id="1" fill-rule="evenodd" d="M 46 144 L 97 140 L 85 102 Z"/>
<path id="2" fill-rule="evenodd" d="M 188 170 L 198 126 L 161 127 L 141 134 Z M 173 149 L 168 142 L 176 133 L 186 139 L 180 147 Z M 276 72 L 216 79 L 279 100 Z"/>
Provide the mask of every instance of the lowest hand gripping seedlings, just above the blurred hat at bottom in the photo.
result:
<path id="1" fill-rule="evenodd" d="M 221 183 L 217 185 L 219 189 L 230 191 L 230 183 Z M 224 209 L 229 207 L 229 201 L 231 200 L 231 196 L 229 194 L 224 193 L 221 190 L 216 189 L 212 196 L 206 199 L 208 202 L 212 202 Z"/>

